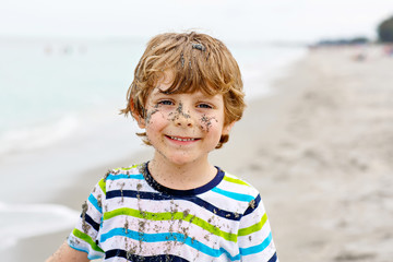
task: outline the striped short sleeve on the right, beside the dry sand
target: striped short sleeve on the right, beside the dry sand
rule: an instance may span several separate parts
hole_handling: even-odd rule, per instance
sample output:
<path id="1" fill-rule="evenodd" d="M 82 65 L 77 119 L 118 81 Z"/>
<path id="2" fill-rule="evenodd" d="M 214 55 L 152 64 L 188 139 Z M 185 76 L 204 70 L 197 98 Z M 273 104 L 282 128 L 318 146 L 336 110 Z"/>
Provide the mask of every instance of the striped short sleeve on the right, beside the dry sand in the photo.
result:
<path id="1" fill-rule="evenodd" d="M 278 261 L 267 215 L 260 194 L 249 203 L 240 219 L 238 242 L 241 261 Z"/>

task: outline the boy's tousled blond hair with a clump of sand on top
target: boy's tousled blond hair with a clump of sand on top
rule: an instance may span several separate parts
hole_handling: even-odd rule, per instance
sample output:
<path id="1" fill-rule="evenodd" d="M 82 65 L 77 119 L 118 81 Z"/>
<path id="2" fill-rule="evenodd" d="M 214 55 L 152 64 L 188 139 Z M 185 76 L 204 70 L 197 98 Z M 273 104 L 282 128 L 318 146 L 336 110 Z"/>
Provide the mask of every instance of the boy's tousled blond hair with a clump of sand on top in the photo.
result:
<path id="1" fill-rule="evenodd" d="M 166 92 L 222 94 L 224 126 L 241 119 L 245 94 L 235 58 L 221 40 L 195 32 L 160 34 L 147 43 L 127 93 L 127 107 L 121 114 L 130 114 L 136 120 L 144 119 L 147 96 L 165 71 L 174 73 L 171 86 Z M 146 136 L 146 133 L 139 135 Z M 222 135 L 216 148 L 228 139 L 228 135 Z M 146 140 L 144 142 L 150 144 Z"/>

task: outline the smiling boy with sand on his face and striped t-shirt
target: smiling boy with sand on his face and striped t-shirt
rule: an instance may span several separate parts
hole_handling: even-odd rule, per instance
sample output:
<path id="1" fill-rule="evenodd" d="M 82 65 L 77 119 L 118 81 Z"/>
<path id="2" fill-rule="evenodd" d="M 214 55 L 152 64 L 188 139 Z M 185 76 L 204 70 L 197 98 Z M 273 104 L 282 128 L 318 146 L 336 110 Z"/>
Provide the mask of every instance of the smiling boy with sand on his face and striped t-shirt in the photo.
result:
<path id="1" fill-rule="evenodd" d="M 207 35 L 151 39 L 123 114 L 151 162 L 107 174 L 48 261 L 277 261 L 259 192 L 209 163 L 245 109 L 241 75 Z"/>

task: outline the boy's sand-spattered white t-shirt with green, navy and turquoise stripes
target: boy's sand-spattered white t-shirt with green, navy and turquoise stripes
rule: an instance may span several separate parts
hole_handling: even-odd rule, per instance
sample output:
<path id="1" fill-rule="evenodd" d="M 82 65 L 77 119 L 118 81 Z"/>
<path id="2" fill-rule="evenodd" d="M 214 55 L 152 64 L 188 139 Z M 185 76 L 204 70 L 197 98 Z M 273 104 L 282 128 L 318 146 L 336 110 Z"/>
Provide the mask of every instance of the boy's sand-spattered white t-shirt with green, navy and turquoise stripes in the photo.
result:
<path id="1" fill-rule="evenodd" d="M 259 192 L 217 168 L 192 190 L 158 184 L 147 164 L 108 172 L 68 242 L 105 261 L 278 261 Z"/>

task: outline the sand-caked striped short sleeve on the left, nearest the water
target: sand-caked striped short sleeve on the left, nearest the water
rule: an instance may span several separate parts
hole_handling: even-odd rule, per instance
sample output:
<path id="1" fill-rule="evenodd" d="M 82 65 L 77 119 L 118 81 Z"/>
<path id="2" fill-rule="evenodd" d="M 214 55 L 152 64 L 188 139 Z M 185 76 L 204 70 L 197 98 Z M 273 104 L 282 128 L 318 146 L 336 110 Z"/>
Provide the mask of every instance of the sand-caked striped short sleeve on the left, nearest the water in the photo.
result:
<path id="1" fill-rule="evenodd" d="M 105 194 L 106 184 L 105 180 L 102 179 L 94 187 L 87 201 L 82 205 L 80 219 L 68 238 L 68 245 L 73 249 L 86 252 L 90 260 L 104 258 L 98 236 L 103 222 Z"/>

